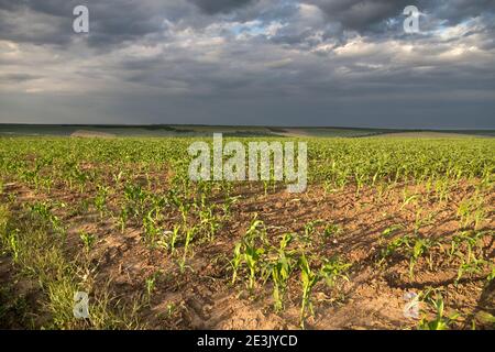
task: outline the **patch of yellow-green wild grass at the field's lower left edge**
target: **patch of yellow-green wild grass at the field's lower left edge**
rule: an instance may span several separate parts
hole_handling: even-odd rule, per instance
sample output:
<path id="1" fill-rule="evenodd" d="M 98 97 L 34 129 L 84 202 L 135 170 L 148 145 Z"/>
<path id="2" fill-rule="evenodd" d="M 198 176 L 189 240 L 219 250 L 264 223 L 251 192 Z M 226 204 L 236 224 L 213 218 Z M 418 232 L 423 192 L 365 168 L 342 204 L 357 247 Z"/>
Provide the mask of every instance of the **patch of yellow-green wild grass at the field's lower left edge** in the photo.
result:
<path id="1" fill-rule="evenodd" d="M 64 255 L 63 241 L 50 231 L 53 218 L 43 217 L 13 221 L 4 206 L 0 207 L 1 248 L 12 255 L 14 268 L 32 280 L 37 280 L 42 295 L 38 301 L 45 316 L 44 329 L 131 329 L 140 328 L 138 301 L 127 307 L 111 298 L 106 287 L 96 287 L 91 279 L 80 279 L 78 272 L 84 264 L 68 261 Z M 56 223 L 58 226 L 58 223 Z M 52 229 L 53 230 L 53 229 Z M 14 239 L 14 240 L 13 240 Z M 86 239 L 89 239 L 86 237 Z M 90 294 L 90 318 L 74 317 L 74 294 Z M 10 302 L 12 306 L 15 302 Z"/>

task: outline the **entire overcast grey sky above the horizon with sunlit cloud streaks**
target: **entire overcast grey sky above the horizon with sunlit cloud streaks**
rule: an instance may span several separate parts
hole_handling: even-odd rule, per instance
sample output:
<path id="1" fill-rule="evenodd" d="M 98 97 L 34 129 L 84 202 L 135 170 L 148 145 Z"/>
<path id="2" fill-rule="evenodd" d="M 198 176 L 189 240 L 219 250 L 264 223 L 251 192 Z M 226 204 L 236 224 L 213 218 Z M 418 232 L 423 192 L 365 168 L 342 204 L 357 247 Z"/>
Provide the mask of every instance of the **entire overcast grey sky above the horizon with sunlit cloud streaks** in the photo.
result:
<path id="1" fill-rule="evenodd" d="M 495 129 L 495 0 L 0 0 L 0 122 Z"/>

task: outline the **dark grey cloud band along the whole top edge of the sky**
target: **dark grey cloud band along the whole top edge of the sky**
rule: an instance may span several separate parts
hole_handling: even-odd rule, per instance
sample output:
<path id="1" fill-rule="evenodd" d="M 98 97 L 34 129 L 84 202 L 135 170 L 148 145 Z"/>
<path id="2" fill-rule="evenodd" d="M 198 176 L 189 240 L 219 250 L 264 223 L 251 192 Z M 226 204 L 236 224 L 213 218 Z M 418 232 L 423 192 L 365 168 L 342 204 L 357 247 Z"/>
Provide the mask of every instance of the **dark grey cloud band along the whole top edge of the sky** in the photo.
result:
<path id="1" fill-rule="evenodd" d="M 0 37 L 35 44 L 67 44 L 72 33 L 73 9 L 80 0 L 0 0 Z M 416 4 L 419 10 L 441 21 L 444 25 L 458 24 L 466 19 L 485 15 L 493 23 L 495 0 L 87 0 L 90 9 L 91 32 L 88 42 L 92 46 L 119 44 L 138 40 L 148 34 L 166 31 L 168 23 L 182 23 L 193 28 L 205 28 L 219 21 L 218 14 L 229 14 L 230 21 L 262 22 L 273 20 L 298 24 L 295 13 L 299 3 L 314 4 L 326 14 L 331 28 L 314 28 L 306 23 L 297 33 L 280 31 L 274 41 L 301 43 L 309 32 L 321 30 L 330 36 L 342 36 L 336 24 L 343 30 L 359 33 L 392 32 L 400 29 L 403 10 Z M 206 16 L 198 16 L 198 8 Z M 23 21 L 21 21 L 23 19 Z M 391 19 L 396 21 L 389 22 Z M 224 20 L 224 18 L 220 19 Z M 492 21 L 491 21 L 492 20 Z M 431 19 L 424 20 L 426 23 Z M 392 24 L 391 24 L 392 23 Z M 48 28 L 50 25 L 50 28 Z M 370 33 L 369 33 L 370 34 Z"/>

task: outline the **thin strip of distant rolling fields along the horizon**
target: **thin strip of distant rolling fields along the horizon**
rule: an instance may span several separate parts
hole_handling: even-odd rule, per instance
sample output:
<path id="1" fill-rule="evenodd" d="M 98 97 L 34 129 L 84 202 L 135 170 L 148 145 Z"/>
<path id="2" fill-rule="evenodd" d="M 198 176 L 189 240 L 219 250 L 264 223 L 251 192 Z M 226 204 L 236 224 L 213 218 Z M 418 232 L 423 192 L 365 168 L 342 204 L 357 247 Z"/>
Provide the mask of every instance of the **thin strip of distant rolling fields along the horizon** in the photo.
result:
<path id="1" fill-rule="evenodd" d="M 407 131 L 352 128 L 275 128 L 222 125 L 30 125 L 0 124 L 0 135 L 74 135 L 74 136 L 208 136 L 213 132 L 226 136 L 315 136 L 395 138 L 495 136 L 495 131 Z"/>

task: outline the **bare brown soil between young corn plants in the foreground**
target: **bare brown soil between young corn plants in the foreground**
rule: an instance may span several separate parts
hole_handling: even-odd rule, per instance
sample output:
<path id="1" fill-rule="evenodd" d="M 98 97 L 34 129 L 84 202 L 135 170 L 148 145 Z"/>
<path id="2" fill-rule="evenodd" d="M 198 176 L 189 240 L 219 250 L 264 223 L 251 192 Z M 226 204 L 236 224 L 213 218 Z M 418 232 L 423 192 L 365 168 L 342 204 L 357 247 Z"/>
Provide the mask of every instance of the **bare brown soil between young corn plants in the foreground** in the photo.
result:
<path id="1" fill-rule="evenodd" d="M 9 193 L 18 196 L 19 204 L 42 196 L 21 185 L 11 185 Z M 406 318 L 406 293 L 419 293 L 428 287 L 440 288 L 448 311 L 458 311 L 461 319 L 454 328 L 470 328 L 479 312 L 495 315 L 494 285 L 486 284 L 487 273 L 462 278 L 455 285 L 457 263 L 451 263 L 441 252 L 433 252 L 435 267 L 430 270 L 421 257 L 409 276 L 409 261 L 392 256 L 384 266 L 376 263 L 384 248 L 384 230 L 400 226 L 394 237 L 415 232 L 417 211 L 429 221 L 421 224 L 417 235 L 429 239 L 448 239 L 462 228 L 457 213 L 459 204 L 474 193 L 471 184 L 460 184 L 448 201 L 425 197 L 420 205 L 404 205 L 404 185 L 380 194 L 376 188 L 364 188 L 358 194 L 354 186 L 326 193 L 322 187 L 310 186 L 305 194 L 287 194 L 283 187 L 264 195 L 249 187 L 238 189 L 242 198 L 232 206 L 231 219 L 217 233 L 212 242 L 194 246 L 194 257 L 180 274 L 176 257 L 143 241 L 140 227 L 128 227 L 121 233 L 111 220 L 100 220 L 96 211 L 73 216 L 61 213 L 69 224 L 67 255 L 81 251 L 79 231 L 97 235 L 90 252 L 97 267 L 96 282 L 107 285 L 113 296 L 122 301 L 143 294 L 145 278 L 157 275 L 150 305 L 141 318 L 151 329 L 298 329 L 301 288 L 298 275 L 289 280 L 285 310 L 273 310 L 272 286 L 258 283 L 250 296 L 242 284 L 230 285 L 233 248 L 257 215 L 268 226 L 268 237 L 274 242 L 286 232 L 304 233 L 305 224 L 314 220 L 337 224 L 341 233 L 324 239 L 324 223 L 317 226 L 315 241 L 310 244 L 315 257 L 339 255 L 352 263 L 349 280 L 329 288 L 317 284 L 312 299 L 315 315 L 308 318 L 306 329 L 414 329 L 418 320 Z M 424 187 L 410 186 L 410 191 L 426 194 Z M 85 196 L 54 188 L 52 199 L 78 204 Z M 487 216 L 479 230 L 484 230 L 483 252 L 494 263 L 495 195 L 486 199 Z M 172 230 L 177 219 L 166 220 Z M 12 283 L 12 265 L 0 262 L 2 287 Z M 160 274 L 156 274 L 160 273 Z M 28 290 L 30 290 L 28 288 Z M 36 292 L 35 285 L 31 286 Z M 23 296 L 29 295 L 23 293 Z M 422 304 L 421 308 L 428 309 Z M 2 320 L 4 322 L 7 320 Z M 9 319 L 10 321 L 10 319 Z M 15 322 L 10 322 L 15 328 Z M 490 326 L 479 322 L 479 328 Z"/>

